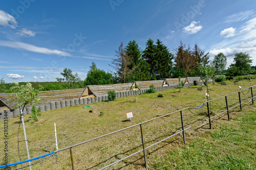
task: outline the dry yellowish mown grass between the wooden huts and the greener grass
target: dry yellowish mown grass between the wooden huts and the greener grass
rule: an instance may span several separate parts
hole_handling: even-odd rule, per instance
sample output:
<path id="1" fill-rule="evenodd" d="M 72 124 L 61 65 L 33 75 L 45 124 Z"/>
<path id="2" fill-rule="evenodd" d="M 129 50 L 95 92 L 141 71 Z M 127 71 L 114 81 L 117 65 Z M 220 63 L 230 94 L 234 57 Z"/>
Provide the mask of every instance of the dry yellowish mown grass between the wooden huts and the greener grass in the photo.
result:
<path id="1" fill-rule="evenodd" d="M 243 87 L 255 85 L 256 80 L 243 80 Z M 211 99 L 216 99 L 225 94 L 239 90 L 239 85 L 233 82 L 227 82 L 226 86 L 220 84 L 210 84 L 209 94 Z M 157 93 L 143 94 L 137 96 L 135 102 L 134 96 L 121 98 L 113 102 L 100 102 L 88 105 L 78 105 L 43 112 L 39 117 L 40 123 L 34 123 L 30 115 L 25 116 L 26 131 L 29 137 L 29 149 L 32 158 L 47 154 L 56 150 L 54 123 L 57 128 L 58 148 L 65 148 L 100 135 L 104 135 L 125 127 L 129 127 L 146 120 L 156 118 L 158 116 L 177 111 L 186 107 L 199 107 L 205 101 L 204 91 L 197 91 L 197 87 L 191 86 L 182 89 L 182 92 L 173 89 L 159 91 Z M 206 89 L 205 87 L 203 87 Z M 253 88 L 256 95 L 256 88 Z M 164 98 L 157 98 L 157 94 L 162 93 Z M 241 94 L 242 99 L 250 96 Z M 245 101 L 249 101 L 246 99 Z M 225 99 L 217 100 L 211 103 L 212 115 L 225 110 Z M 228 104 L 234 105 L 238 102 L 238 94 L 228 96 Z M 83 109 L 83 106 L 93 106 L 93 112 L 89 112 L 91 108 Z M 244 109 L 246 109 L 244 107 Z M 248 107 L 254 109 L 253 106 Z M 192 111 L 192 110 L 191 110 Z M 197 112 L 199 109 L 193 110 Z M 200 126 L 207 118 L 206 106 L 202 113 L 198 115 L 191 114 L 188 110 L 183 112 L 184 128 Z M 239 114 L 239 107 L 234 108 L 230 113 L 231 121 Z M 104 112 L 103 116 L 99 116 L 100 112 Z M 125 113 L 133 112 L 134 118 L 132 122 L 126 120 Z M 18 162 L 17 153 L 17 130 L 19 118 L 15 117 L 9 120 L 9 162 Z M 226 113 L 221 114 L 212 119 L 212 128 L 215 129 L 227 122 Z M 3 121 L 0 123 L 3 127 Z M 199 129 L 189 129 L 186 131 L 186 141 L 197 140 L 203 134 L 207 134 L 209 130 L 208 122 Z M 143 124 L 144 140 L 146 147 L 181 130 L 180 113 L 175 113 L 166 117 L 154 120 L 153 122 Z M 20 132 L 20 140 L 24 140 L 23 131 Z M 178 151 L 183 147 L 182 134 L 172 137 L 161 142 L 147 150 L 148 162 L 160 159 L 166 155 L 168 151 Z M 3 148 L 3 143 L 0 143 Z M 73 148 L 75 164 L 77 169 L 98 169 L 136 151 L 141 150 L 141 136 L 139 126 L 118 132 L 108 137 L 100 138 L 95 141 L 79 145 Z M 20 154 L 23 160 L 27 159 L 25 142 L 20 143 Z M 33 163 L 33 162 L 32 162 Z M 120 163 L 111 166 L 110 169 L 144 169 L 143 152 L 130 157 Z M 149 163 L 150 168 L 154 168 Z M 20 167 L 20 166 L 16 166 Z M 35 165 L 36 169 L 70 169 L 71 160 L 69 150 L 58 153 L 58 164 L 54 158 Z"/>

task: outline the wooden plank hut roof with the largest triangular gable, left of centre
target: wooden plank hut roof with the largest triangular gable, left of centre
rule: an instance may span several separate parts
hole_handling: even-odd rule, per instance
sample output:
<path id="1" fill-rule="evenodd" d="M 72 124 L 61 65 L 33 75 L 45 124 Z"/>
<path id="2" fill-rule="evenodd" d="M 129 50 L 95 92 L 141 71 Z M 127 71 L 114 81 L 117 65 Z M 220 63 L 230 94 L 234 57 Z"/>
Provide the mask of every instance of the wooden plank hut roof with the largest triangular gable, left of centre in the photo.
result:
<path id="1" fill-rule="evenodd" d="M 106 84 L 106 85 L 88 85 L 84 88 L 79 99 L 87 98 L 89 96 L 107 95 L 108 91 L 114 90 L 115 92 L 130 91 L 136 89 L 136 82 L 121 83 L 121 84 Z"/>

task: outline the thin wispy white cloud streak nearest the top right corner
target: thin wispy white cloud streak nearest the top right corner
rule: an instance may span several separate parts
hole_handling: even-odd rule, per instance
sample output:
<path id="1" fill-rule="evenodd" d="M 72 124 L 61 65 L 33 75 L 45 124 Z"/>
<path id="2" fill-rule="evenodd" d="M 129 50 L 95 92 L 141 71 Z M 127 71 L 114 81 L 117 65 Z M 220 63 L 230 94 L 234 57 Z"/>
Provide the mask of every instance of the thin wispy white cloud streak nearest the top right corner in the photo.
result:
<path id="1" fill-rule="evenodd" d="M 224 23 L 243 21 L 243 20 L 249 18 L 253 14 L 254 14 L 253 10 L 243 11 L 243 12 L 239 12 L 236 14 L 232 14 L 232 15 L 225 17 Z"/>

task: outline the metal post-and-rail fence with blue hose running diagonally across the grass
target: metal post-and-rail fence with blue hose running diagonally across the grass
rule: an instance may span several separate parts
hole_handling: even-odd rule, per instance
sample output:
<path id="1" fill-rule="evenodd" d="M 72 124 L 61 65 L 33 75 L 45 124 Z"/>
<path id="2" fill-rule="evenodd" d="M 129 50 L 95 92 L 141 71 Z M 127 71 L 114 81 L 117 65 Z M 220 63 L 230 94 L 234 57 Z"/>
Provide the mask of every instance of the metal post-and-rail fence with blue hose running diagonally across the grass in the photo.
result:
<path id="1" fill-rule="evenodd" d="M 118 163 L 118 162 L 120 162 L 120 161 L 122 161 L 122 160 L 125 160 L 125 159 L 127 159 L 127 158 L 129 158 L 129 157 L 131 157 L 131 156 L 134 156 L 134 155 L 136 155 L 136 154 L 138 154 L 138 153 L 140 153 L 140 152 L 143 152 L 143 155 L 144 155 L 144 166 L 145 166 L 145 168 L 147 168 L 148 166 L 147 166 L 147 160 L 146 160 L 146 150 L 147 150 L 148 148 L 151 148 L 151 147 L 153 147 L 154 145 L 156 145 L 156 144 L 158 144 L 158 143 L 160 143 L 160 142 L 163 142 L 164 140 L 169 139 L 169 138 L 171 138 L 171 137 L 173 137 L 173 136 L 176 136 L 176 135 L 178 135 L 178 134 L 180 134 L 180 133 L 182 133 L 183 142 L 184 142 L 184 144 L 186 144 L 186 140 L 185 140 L 185 131 L 186 131 L 186 130 L 188 130 L 188 129 L 200 128 L 200 127 L 202 127 L 202 126 L 207 122 L 207 120 L 209 121 L 209 129 L 212 129 L 212 127 L 211 127 L 211 118 L 214 118 L 214 117 L 216 117 L 216 116 L 218 116 L 218 115 L 220 115 L 220 114 L 222 114 L 222 113 L 227 112 L 228 120 L 230 120 L 230 117 L 229 117 L 229 110 L 230 110 L 230 109 L 233 109 L 233 108 L 235 108 L 235 107 L 237 107 L 237 106 L 240 106 L 240 111 L 242 111 L 242 104 L 247 105 L 247 104 L 249 104 L 250 102 L 252 102 L 252 104 L 254 104 L 254 98 L 255 98 L 255 96 L 253 96 L 252 87 L 256 87 L 256 85 L 250 86 L 250 87 L 248 87 L 248 88 L 246 88 L 246 89 L 243 89 L 243 90 L 240 90 L 240 91 L 236 91 L 236 92 L 233 92 L 233 93 L 230 93 L 230 94 L 221 96 L 221 97 L 216 98 L 216 99 L 212 99 L 212 100 L 210 100 L 210 101 L 203 102 L 203 103 L 201 104 L 201 106 L 199 106 L 199 107 L 187 107 L 187 108 L 184 108 L 184 109 L 181 109 L 181 110 L 177 110 L 177 111 L 175 111 L 175 112 L 168 113 L 168 114 L 165 114 L 165 115 L 162 115 L 162 116 L 159 116 L 159 117 L 156 117 L 156 118 L 147 120 L 147 121 L 145 121 L 145 122 L 142 122 L 142 123 L 139 123 L 139 124 L 130 126 L 130 127 L 126 127 L 126 128 L 123 128 L 123 129 L 120 129 L 120 130 L 117 130 L 117 131 L 114 131 L 114 132 L 111 132 L 111 133 L 108 133 L 108 134 L 105 134 L 105 135 L 101 135 L 101 136 L 95 137 L 95 138 L 93 138 L 93 139 L 89 139 L 89 140 L 86 140 L 86 141 L 83 141 L 83 142 L 80 142 L 80 143 L 77 143 L 77 144 L 74 144 L 74 145 L 70 145 L 69 147 L 59 149 L 59 150 L 57 150 L 57 151 L 51 152 L 51 153 L 46 154 L 46 155 L 42 155 L 42 156 L 39 156 L 39 157 L 36 157 L 36 158 L 33 158 L 33 159 L 29 159 L 29 160 L 26 160 L 26 161 L 22 161 L 22 162 L 16 162 L 16 163 L 11 163 L 11 164 L 7 164 L 7 165 L 1 165 L 0 168 L 2 168 L 2 167 L 7 167 L 7 166 L 13 166 L 13 165 L 17 165 L 17 164 L 22 164 L 22 163 L 29 162 L 29 161 L 32 161 L 32 160 L 40 159 L 40 158 L 42 158 L 42 157 L 46 157 L 46 156 L 49 156 L 49 157 L 50 157 L 50 156 L 53 156 L 53 155 L 56 156 L 56 163 L 57 163 L 57 153 L 69 149 L 69 150 L 70 150 L 70 156 L 71 156 L 72 169 L 74 170 L 74 169 L 75 169 L 75 160 L 74 160 L 74 152 L 73 152 L 73 148 L 74 148 L 74 147 L 77 147 L 78 145 L 81 145 L 81 144 L 84 144 L 84 143 L 88 143 L 88 142 L 97 140 L 97 139 L 99 139 L 99 138 L 106 137 L 106 136 L 109 136 L 109 135 L 112 135 L 112 134 L 115 134 L 115 133 L 118 133 L 118 132 L 121 132 L 121 131 L 124 131 L 124 130 L 127 130 L 127 129 L 131 129 L 131 128 L 134 128 L 134 127 L 137 127 L 137 126 L 140 126 L 142 149 L 139 150 L 139 151 L 137 151 L 137 152 L 135 152 L 135 153 L 133 153 L 133 154 L 131 154 L 131 155 L 129 155 L 129 156 L 126 156 L 126 157 L 124 157 L 124 158 L 122 158 L 122 159 L 119 159 L 119 160 L 117 160 L 117 161 L 115 161 L 115 162 L 113 162 L 113 163 L 111 163 L 111 164 L 109 164 L 109 165 L 106 165 L 106 166 L 104 166 L 104 167 L 102 167 L 102 168 L 100 168 L 100 169 L 105 169 L 105 168 L 107 168 L 107 167 L 110 167 L 110 166 L 112 166 L 112 165 L 114 165 L 114 164 L 116 164 L 116 163 Z M 248 89 L 248 91 L 251 91 L 251 98 L 249 98 L 250 101 L 245 104 L 245 103 L 242 102 L 242 100 L 241 100 L 241 93 L 243 93 L 243 91 L 244 91 L 244 90 L 247 90 L 247 89 Z M 237 102 L 237 103 L 239 103 L 239 104 L 238 104 L 238 105 L 235 105 L 235 106 L 232 106 L 232 105 L 231 105 L 232 107 L 229 108 L 229 107 L 228 107 L 228 100 L 227 100 L 227 97 L 230 96 L 230 95 L 232 95 L 232 94 L 236 94 L 236 93 L 238 93 L 238 96 L 239 96 L 239 102 Z M 249 92 L 248 92 L 248 93 L 249 93 Z M 247 94 L 248 94 L 248 93 L 247 93 Z M 243 94 L 244 94 L 244 93 L 243 93 Z M 246 94 L 244 94 L 244 95 L 246 95 Z M 217 115 L 210 116 L 209 103 L 212 102 L 212 101 L 216 101 L 216 100 L 219 100 L 219 99 L 223 99 L 223 98 L 225 98 L 226 110 L 222 111 L 221 113 L 219 113 L 219 114 L 217 114 Z M 182 111 L 188 109 L 188 110 L 191 112 L 190 109 L 199 109 L 199 108 L 203 107 L 205 104 L 206 104 L 206 106 L 207 106 L 208 118 L 205 119 L 204 123 L 203 123 L 202 125 L 198 126 L 198 127 L 191 127 L 191 126 L 190 126 L 190 127 L 186 128 L 186 129 L 184 129 L 184 125 L 183 125 L 183 113 L 182 113 Z M 202 109 L 201 109 L 198 113 L 196 113 L 196 114 L 199 114 L 201 111 L 202 111 Z M 170 135 L 170 136 L 168 136 L 168 137 L 166 137 L 166 138 L 164 138 L 164 139 L 162 139 L 162 140 L 160 140 L 160 141 L 158 141 L 158 142 L 156 142 L 156 143 L 154 143 L 154 144 L 152 144 L 152 145 L 150 145 L 150 146 L 148 146 L 148 147 L 145 147 L 144 135 L 143 135 L 143 127 L 142 127 L 142 125 L 145 124 L 145 123 L 148 123 L 148 122 L 152 122 L 153 120 L 156 120 L 156 119 L 159 119 L 159 118 L 162 118 L 162 117 L 166 117 L 166 116 L 168 116 L 168 115 L 171 115 L 171 114 L 174 114 L 174 113 L 178 113 L 178 112 L 180 112 L 182 130 L 179 131 L 179 132 L 177 132 L 177 133 L 175 133 L 175 134 L 173 134 L 173 135 Z M 191 112 L 191 113 L 193 113 L 193 112 Z M 195 114 L 195 113 L 193 113 L 193 114 Z M 42 161 L 42 160 L 41 160 L 41 161 Z M 40 161 L 38 161 L 38 162 L 40 162 Z M 36 163 L 38 163 L 38 162 L 35 162 L 34 164 L 36 164 Z M 28 166 L 29 166 L 29 165 L 28 165 Z M 25 167 L 28 167 L 28 166 L 25 166 Z M 16 168 L 16 169 L 20 169 L 20 168 Z"/>

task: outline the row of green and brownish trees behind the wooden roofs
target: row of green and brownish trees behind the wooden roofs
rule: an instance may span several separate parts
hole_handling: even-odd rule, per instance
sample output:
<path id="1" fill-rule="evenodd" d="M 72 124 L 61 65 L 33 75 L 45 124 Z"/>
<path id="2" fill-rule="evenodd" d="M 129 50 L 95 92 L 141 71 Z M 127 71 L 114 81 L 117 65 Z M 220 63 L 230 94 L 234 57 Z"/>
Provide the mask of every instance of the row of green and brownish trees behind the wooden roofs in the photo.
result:
<path id="1" fill-rule="evenodd" d="M 135 40 L 127 43 L 121 42 L 116 51 L 116 58 L 112 59 L 110 67 L 115 71 L 106 72 L 97 68 L 92 62 L 87 78 L 82 81 L 77 72 L 70 68 L 60 72 L 62 78 L 56 78 L 56 82 L 31 82 L 34 88 L 40 84 L 45 91 L 71 88 L 83 88 L 85 85 L 102 85 L 127 83 L 130 81 L 159 80 L 162 78 L 207 76 L 215 75 L 230 77 L 256 74 L 255 66 L 251 66 L 252 59 L 248 53 L 234 55 L 233 63 L 227 69 L 227 58 L 219 53 L 212 61 L 209 53 L 206 53 L 196 43 L 193 48 L 180 42 L 177 48 L 170 52 L 163 42 L 151 38 L 145 43 L 145 49 L 141 50 Z M 22 84 L 22 83 L 21 83 Z M 6 84 L 4 79 L 0 82 L 0 92 L 9 92 L 12 83 Z"/>

